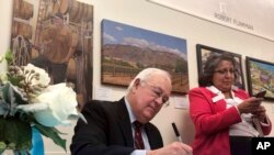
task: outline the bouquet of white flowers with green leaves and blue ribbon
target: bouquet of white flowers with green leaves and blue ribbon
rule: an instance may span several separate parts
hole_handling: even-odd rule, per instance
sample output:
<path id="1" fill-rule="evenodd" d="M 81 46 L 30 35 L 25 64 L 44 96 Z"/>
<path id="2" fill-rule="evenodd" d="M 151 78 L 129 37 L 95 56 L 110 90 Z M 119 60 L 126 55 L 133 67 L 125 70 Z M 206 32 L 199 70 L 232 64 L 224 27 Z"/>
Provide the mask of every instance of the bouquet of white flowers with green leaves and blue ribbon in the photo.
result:
<path id="1" fill-rule="evenodd" d="M 66 140 L 56 125 L 69 118 L 84 118 L 77 111 L 76 93 L 66 84 L 49 85 L 48 74 L 32 64 L 15 66 L 12 53 L 0 59 L 0 154 L 30 154 L 32 128 L 66 151 Z M 85 121 L 85 120 L 84 120 Z"/>

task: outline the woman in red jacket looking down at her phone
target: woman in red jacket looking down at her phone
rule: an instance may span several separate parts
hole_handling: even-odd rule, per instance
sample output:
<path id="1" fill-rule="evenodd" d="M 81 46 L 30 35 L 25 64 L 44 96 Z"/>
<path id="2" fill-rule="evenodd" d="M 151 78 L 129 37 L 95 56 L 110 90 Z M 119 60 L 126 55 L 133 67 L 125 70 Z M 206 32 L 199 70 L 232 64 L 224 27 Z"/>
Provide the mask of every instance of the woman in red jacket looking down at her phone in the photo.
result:
<path id="1" fill-rule="evenodd" d="M 251 137 L 271 132 L 262 98 L 233 86 L 239 70 L 231 55 L 210 55 L 198 88 L 190 91 L 190 115 L 195 125 L 194 155 L 251 155 Z M 253 119 L 255 118 L 255 119 Z"/>

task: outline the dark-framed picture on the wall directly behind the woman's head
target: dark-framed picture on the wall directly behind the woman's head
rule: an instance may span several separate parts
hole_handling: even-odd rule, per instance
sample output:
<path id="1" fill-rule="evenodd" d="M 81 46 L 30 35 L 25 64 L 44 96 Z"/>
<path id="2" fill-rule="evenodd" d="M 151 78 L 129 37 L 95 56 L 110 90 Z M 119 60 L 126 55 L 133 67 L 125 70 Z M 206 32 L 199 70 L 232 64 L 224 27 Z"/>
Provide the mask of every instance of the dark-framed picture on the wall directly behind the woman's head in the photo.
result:
<path id="1" fill-rule="evenodd" d="M 224 53 L 229 53 L 231 54 L 236 62 L 237 62 L 237 66 L 236 68 L 240 71 L 240 75 L 237 76 L 236 81 L 235 81 L 235 86 L 241 88 L 241 89 L 246 89 L 244 87 L 244 78 L 243 78 L 243 73 L 242 73 L 242 57 L 239 54 L 235 54 L 231 52 L 227 52 L 227 51 L 222 51 L 222 49 L 218 49 L 218 48 L 214 48 L 214 47 L 209 47 L 209 46 L 205 46 L 205 45 L 201 45 L 197 44 L 196 45 L 196 52 L 197 52 L 197 69 L 198 69 L 198 77 L 203 74 L 203 68 L 204 68 L 204 64 L 207 59 L 208 56 L 210 55 L 220 55 Z"/>

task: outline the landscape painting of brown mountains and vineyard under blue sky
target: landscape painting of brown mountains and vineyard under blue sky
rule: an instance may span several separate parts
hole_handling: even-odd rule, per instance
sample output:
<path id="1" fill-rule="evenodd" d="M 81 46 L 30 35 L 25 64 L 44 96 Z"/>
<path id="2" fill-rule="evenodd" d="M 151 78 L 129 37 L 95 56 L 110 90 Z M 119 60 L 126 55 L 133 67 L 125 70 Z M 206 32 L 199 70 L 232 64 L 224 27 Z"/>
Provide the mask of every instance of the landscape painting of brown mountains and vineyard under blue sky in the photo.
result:
<path id="1" fill-rule="evenodd" d="M 187 93 L 186 40 L 103 20 L 101 80 L 128 86 L 144 68 L 156 67 L 172 76 L 172 92 Z"/>

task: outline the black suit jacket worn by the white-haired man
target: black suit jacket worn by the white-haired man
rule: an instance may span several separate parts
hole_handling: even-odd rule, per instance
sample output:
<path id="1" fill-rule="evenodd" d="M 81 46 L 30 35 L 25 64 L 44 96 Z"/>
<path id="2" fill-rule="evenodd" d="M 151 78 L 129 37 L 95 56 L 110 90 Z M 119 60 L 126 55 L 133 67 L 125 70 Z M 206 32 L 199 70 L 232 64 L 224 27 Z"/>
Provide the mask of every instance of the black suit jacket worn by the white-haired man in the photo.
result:
<path id="1" fill-rule="evenodd" d="M 72 155 L 129 155 L 135 150 L 124 98 L 116 102 L 89 101 L 82 114 L 88 124 L 80 119 L 77 122 L 70 145 Z M 153 124 L 146 123 L 145 131 L 151 150 L 163 146 Z"/>

